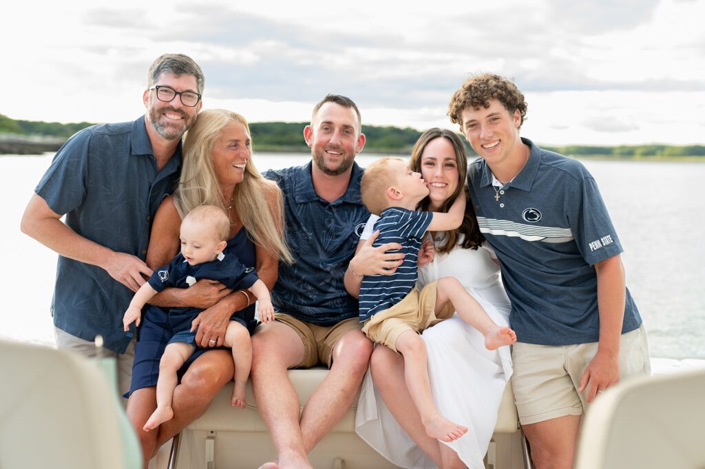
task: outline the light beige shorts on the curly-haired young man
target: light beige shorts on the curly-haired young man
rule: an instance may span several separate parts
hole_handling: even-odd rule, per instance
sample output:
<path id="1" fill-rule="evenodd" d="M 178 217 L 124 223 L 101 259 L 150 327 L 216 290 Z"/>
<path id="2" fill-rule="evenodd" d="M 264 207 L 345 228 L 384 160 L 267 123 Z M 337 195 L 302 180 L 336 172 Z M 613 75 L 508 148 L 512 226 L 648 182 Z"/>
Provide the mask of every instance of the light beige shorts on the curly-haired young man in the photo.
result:
<path id="1" fill-rule="evenodd" d="M 597 352 L 597 342 L 570 346 L 542 346 L 517 342 L 512 346 L 512 387 L 522 425 L 565 415 L 581 415 L 589 389 L 579 393 L 580 378 Z M 646 331 L 622 334 L 620 380 L 650 374 Z"/>

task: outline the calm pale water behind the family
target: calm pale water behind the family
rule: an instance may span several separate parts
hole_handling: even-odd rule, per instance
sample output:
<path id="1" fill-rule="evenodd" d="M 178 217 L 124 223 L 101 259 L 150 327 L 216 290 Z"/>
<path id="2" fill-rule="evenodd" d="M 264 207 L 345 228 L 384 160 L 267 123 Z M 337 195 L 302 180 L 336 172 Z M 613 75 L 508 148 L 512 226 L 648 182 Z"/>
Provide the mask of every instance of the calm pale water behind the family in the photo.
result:
<path id="1" fill-rule="evenodd" d="M 53 343 L 49 316 L 56 254 L 20 233 L 20 217 L 51 162 L 0 157 L 4 269 L 0 336 Z M 376 155 L 360 154 L 365 166 Z M 259 169 L 307 161 L 302 154 L 255 154 Z M 705 358 L 705 164 L 584 161 L 599 183 L 625 248 L 623 262 L 649 333 L 651 356 Z M 700 233 L 700 234 L 698 234 Z M 700 238 L 701 239 L 701 238 Z"/>

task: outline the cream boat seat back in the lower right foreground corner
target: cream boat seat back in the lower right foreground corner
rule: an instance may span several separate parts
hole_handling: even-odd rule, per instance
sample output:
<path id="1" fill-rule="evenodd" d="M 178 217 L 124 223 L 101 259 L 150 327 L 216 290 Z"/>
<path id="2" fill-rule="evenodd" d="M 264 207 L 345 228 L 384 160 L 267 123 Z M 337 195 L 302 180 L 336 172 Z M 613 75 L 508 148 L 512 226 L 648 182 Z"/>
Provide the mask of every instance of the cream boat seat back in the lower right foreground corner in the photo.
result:
<path id="1" fill-rule="evenodd" d="M 575 469 L 705 468 L 705 369 L 632 378 L 586 413 Z"/>

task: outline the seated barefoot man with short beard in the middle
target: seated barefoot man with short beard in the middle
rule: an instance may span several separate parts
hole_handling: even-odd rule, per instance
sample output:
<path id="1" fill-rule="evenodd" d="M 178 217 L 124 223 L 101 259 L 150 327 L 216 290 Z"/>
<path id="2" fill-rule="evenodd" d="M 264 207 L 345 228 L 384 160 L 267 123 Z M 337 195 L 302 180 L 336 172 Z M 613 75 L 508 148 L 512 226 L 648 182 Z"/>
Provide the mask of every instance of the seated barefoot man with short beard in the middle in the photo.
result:
<path id="1" fill-rule="evenodd" d="M 304 137 L 312 162 L 265 173 L 284 195 L 286 242 L 295 262 L 279 264 L 271 292 L 275 322 L 252 336 L 252 385 L 279 468 L 311 467 L 307 453 L 348 412 L 372 353 L 360 331 L 357 300 L 343 286 L 369 217 L 355 163 L 364 147 L 360 111 L 349 98 L 328 95 L 314 107 Z M 330 371 L 299 415 L 286 370 L 319 363 Z"/>

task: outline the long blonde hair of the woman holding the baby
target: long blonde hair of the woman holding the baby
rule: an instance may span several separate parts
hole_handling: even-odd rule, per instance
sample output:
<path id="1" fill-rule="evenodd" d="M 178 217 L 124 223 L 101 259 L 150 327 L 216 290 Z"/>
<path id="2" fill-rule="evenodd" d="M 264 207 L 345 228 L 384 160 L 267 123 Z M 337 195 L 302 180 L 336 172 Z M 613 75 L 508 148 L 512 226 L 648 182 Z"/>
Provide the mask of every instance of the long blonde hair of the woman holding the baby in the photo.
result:
<path id="1" fill-rule="evenodd" d="M 216 205 L 228 212 L 212 153 L 223 128 L 232 121 L 242 123 L 247 134 L 250 134 L 247 120 L 240 114 L 226 109 L 202 111 L 196 123 L 188 130 L 183 145 L 181 177 L 173 198 L 181 219 L 199 205 Z M 276 198 L 276 205 L 269 210 L 262 210 L 262 203 L 269 200 L 268 196 Z M 281 190 L 275 183 L 266 181 L 251 161 L 245 165 L 243 181 L 235 184 L 233 207 L 255 244 L 278 259 L 293 262 L 283 236 Z"/>

